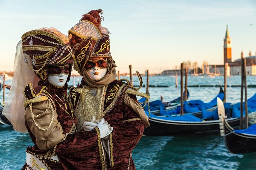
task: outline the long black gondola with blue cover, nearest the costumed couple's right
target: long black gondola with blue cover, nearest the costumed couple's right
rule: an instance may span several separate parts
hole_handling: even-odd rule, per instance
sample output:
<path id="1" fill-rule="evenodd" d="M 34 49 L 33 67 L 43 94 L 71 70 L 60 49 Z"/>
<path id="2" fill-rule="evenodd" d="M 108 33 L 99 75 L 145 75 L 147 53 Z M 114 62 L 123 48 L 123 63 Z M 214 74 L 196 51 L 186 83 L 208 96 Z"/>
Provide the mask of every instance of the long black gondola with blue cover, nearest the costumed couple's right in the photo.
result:
<path id="1" fill-rule="evenodd" d="M 218 98 L 219 99 L 219 98 Z M 253 96 L 253 100 L 256 99 L 256 95 Z M 219 99 L 221 100 L 221 99 Z M 248 99 L 249 100 L 249 99 Z M 231 105 L 229 109 L 225 110 L 228 118 L 227 122 L 231 127 L 236 128 L 240 125 L 240 118 L 233 112 L 233 107 Z M 235 110 L 234 110 L 235 111 Z M 256 110 L 255 110 L 256 111 Z M 251 112 L 248 116 L 255 114 L 256 112 Z M 147 114 L 148 112 L 145 111 Z M 207 112 L 202 110 L 201 118 L 193 114 L 184 114 L 178 116 L 157 116 L 151 114 L 149 117 L 150 127 L 144 130 L 143 135 L 145 136 L 178 136 L 178 135 L 212 135 L 219 134 L 219 123 L 218 119 L 218 109 L 212 112 Z M 209 117 L 202 117 L 206 115 L 205 113 L 215 113 L 215 116 L 209 114 Z M 216 118 L 217 117 L 217 118 Z"/>

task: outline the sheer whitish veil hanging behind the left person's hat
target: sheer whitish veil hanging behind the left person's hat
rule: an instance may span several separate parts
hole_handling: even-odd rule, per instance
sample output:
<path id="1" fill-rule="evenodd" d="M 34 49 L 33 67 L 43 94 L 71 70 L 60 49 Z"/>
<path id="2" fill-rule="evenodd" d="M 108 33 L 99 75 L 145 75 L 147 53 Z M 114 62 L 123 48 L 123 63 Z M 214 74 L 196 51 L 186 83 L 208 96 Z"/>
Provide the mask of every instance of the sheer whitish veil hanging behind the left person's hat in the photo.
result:
<path id="1" fill-rule="evenodd" d="M 26 56 L 28 64 L 31 64 L 31 57 L 29 55 Z M 15 131 L 22 133 L 28 132 L 25 126 L 25 107 L 23 103 L 26 101 L 26 98 L 23 95 L 23 91 L 28 83 L 31 83 L 34 88 L 38 86 L 39 82 L 38 77 L 29 68 L 28 64 L 25 63 L 24 59 L 25 55 L 23 54 L 22 42 L 20 40 L 16 46 L 11 89 L 3 107 L 3 115 L 11 122 Z"/>

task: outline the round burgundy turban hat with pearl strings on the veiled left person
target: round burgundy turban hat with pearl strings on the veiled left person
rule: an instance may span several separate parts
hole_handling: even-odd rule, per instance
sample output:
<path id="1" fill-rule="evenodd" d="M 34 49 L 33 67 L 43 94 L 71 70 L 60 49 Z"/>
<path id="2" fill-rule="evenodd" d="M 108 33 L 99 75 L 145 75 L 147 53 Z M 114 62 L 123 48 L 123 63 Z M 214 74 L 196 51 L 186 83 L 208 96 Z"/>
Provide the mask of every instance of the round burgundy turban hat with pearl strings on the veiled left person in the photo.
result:
<path id="1" fill-rule="evenodd" d="M 26 32 L 21 39 L 24 61 L 40 80 L 47 80 L 49 65 L 69 65 L 71 73 L 73 58 L 67 35 L 51 27 Z"/>

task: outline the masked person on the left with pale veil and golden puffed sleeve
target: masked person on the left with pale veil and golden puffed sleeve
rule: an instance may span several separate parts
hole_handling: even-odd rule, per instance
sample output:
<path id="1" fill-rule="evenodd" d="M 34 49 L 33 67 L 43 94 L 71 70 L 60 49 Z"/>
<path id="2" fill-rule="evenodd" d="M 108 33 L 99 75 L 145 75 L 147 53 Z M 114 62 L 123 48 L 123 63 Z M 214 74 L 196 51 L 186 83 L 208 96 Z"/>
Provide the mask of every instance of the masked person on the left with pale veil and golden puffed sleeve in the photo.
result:
<path id="1" fill-rule="evenodd" d="M 73 160 L 80 151 L 90 154 L 93 149 L 99 150 L 101 138 L 108 136 L 112 128 L 102 119 L 95 129 L 76 133 L 77 120 L 67 98 L 67 81 L 73 61 L 67 36 L 54 28 L 26 32 L 17 45 L 17 53 L 20 70 L 15 70 L 12 88 L 15 90 L 16 85 L 18 88 L 24 82 L 31 83 L 23 86 L 26 101 L 22 98 L 23 93 L 16 96 L 17 101 L 24 101 L 26 109 L 23 106 L 23 109 L 16 111 L 16 115 L 6 115 L 14 129 L 28 131 L 34 143 L 26 149 L 26 164 L 22 169 L 101 169 L 100 161 L 95 161 L 93 167 L 88 165 L 85 168 Z M 16 84 L 16 80 L 23 81 L 23 84 Z M 7 104 L 10 113 L 20 106 L 14 104 L 15 100 L 14 96 L 12 103 Z M 69 161 L 68 157 L 73 161 Z M 100 157 L 99 153 L 94 153 L 91 159 L 96 160 L 96 157 Z"/>

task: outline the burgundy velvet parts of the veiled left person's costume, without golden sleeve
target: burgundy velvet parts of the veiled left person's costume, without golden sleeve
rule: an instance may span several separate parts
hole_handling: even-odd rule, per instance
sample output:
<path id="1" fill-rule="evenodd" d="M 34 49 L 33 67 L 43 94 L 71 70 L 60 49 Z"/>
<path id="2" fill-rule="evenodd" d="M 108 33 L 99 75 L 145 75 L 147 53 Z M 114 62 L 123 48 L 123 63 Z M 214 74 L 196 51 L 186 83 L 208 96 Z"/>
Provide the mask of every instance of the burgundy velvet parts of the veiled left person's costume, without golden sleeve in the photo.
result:
<path id="1" fill-rule="evenodd" d="M 39 82 L 39 84 L 41 84 Z M 42 89 L 43 86 L 38 86 L 34 89 L 33 93 L 38 94 L 39 91 Z M 47 84 L 47 92 L 42 92 L 41 95 L 43 96 L 50 96 L 53 99 L 54 104 L 56 106 L 56 112 L 58 114 L 58 121 L 60 122 L 64 133 L 68 133 L 73 125 L 73 122 L 76 123 L 76 119 L 70 117 L 60 106 L 58 103 L 62 103 L 60 99 L 56 96 L 65 96 L 67 97 L 67 85 L 63 88 L 56 88 L 53 87 L 50 83 Z M 28 90 L 28 91 L 26 91 Z M 31 91 L 29 86 L 25 88 L 25 95 L 27 98 L 33 98 L 31 96 Z M 57 102 L 58 103 L 57 103 Z M 63 101 L 64 102 L 64 101 Z M 67 111 L 71 113 L 69 103 L 65 100 L 67 104 Z M 27 150 L 37 154 L 38 156 L 44 157 L 48 151 L 42 151 L 37 147 L 36 138 L 34 137 L 33 133 L 29 129 L 29 135 L 31 136 L 31 140 L 34 143 L 33 147 L 28 147 Z M 98 134 L 96 130 L 88 131 L 88 132 L 80 132 L 80 133 L 73 133 L 68 134 L 66 140 L 60 142 L 56 148 L 56 154 L 59 157 L 60 162 L 52 162 L 49 159 L 44 160 L 46 164 L 53 170 L 75 170 L 75 169 L 101 169 L 101 162 L 97 158 L 99 157 L 98 149 Z M 84 152 L 86 157 L 78 156 L 80 152 Z M 86 159 L 85 159 L 86 158 Z M 86 166 L 84 165 L 86 162 Z M 88 163 L 87 163 L 88 162 Z M 90 163 L 89 163 L 90 162 Z M 23 167 L 26 169 L 26 166 Z"/>

